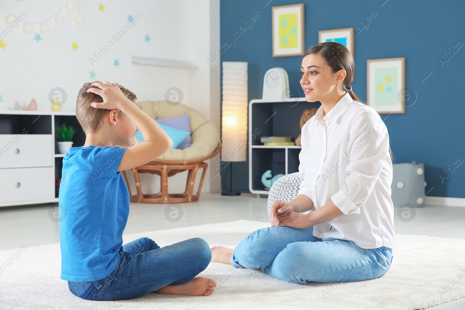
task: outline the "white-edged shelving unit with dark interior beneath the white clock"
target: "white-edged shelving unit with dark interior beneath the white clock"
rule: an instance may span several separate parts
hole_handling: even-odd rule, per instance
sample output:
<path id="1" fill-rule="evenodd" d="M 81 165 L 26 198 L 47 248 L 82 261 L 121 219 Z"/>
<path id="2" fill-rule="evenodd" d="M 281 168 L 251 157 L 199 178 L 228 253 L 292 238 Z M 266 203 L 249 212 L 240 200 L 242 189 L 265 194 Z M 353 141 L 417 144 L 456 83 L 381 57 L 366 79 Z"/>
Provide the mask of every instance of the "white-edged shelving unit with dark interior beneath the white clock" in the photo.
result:
<path id="1" fill-rule="evenodd" d="M 249 102 L 249 191 L 253 194 L 268 194 L 261 183 L 266 170 L 272 176 L 279 173 L 289 174 L 299 171 L 298 145 L 262 145 L 261 136 L 291 136 L 296 139 L 300 134 L 300 117 L 306 109 L 319 107 L 319 102 L 307 102 L 305 98 L 292 101 L 270 101 L 253 99 Z M 253 139 L 252 139 L 253 137 Z M 274 162 L 275 158 L 282 159 Z"/>

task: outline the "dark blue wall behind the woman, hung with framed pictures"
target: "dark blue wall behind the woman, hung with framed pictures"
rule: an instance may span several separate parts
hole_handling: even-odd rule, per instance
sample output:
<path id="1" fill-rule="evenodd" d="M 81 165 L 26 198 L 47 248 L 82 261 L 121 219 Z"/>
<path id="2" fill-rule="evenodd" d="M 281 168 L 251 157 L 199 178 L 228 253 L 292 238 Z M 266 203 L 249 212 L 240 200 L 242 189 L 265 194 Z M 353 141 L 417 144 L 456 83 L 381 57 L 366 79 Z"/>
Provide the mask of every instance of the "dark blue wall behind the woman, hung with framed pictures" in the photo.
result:
<path id="1" fill-rule="evenodd" d="M 226 41 L 232 44 L 221 61 L 248 62 L 249 101 L 261 98 L 264 75 L 272 67 L 284 68 L 289 86 L 300 89 L 302 56 L 272 57 L 271 10 L 303 1 L 268 2 L 222 0 L 220 5 L 221 46 Z M 259 18 L 252 28 L 233 42 L 229 35 L 256 12 Z M 381 114 L 395 163 L 424 163 L 428 196 L 465 198 L 465 1 L 305 1 L 305 49 L 318 44 L 319 30 L 362 29 L 372 12 L 376 17 L 354 40 L 352 89 L 366 102 L 367 59 L 405 57 L 405 86 L 416 92 L 416 102 L 405 108 L 405 114 L 393 113 L 387 119 L 388 114 Z M 450 52 L 453 48 L 458 52 Z M 248 164 L 231 165 L 233 190 L 247 191 Z M 221 172 L 223 177 L 225 172 Z M 229 190 L 231 171 L 227 173 Z"/>

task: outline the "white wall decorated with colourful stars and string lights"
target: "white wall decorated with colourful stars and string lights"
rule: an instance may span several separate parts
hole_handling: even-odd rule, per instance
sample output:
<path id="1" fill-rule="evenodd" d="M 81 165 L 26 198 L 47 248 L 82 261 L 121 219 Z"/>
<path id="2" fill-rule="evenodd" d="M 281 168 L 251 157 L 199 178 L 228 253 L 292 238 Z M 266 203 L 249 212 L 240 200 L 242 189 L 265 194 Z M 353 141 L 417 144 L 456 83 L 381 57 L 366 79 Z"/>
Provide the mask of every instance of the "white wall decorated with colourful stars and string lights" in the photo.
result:
<path id="1" fill-rule="evenodd" d="M 106 6 L 103 13 L 98 6 L 102 2 Z M 26 106 L 34 98 L 39 111 L 50 111 L 48 93 L 59 86 L 68 95 L 62 111 L 74 112 L 77 92 L 84 82 L 93 80 L 89 74 L 93 70 L 95 79 L 118 82 L 133 91 L 138 100 L 164 99 L 168 88 L 178 87 L 184 93 L 183 103 L 201 112 L 219 129 L 219 61 L 210 67 L 205 61 L 210 51 L 219 46 L 219 0 L 80 0 L 73 3 L 75 8 L 68 11 L 65 0 L 0 0 L 0 32 L 7 30 L 4 39 L 7 46 L 5 50 L 0 48 L 3 101 L 0 110 L 13 108 L 15 102 Z M 22 12 L 27 17 L 20 27 L 7 28 L 5 17 L 19 16 Z M 112 36 L 128 25 L 128 15 L 135 17 L 139 12 L 143 17 L 116 41 Z M 61 25 L 53 21 L 56 13 L 64 18 Z M 79 25 L 74 22 L 76 15 L 84 20 Z M 52 18 L 46 22 L 48 32 L 40 33 L 39 24 L 49 17 Z M 31 33 L 22 31 L 25 23 L 32 26 Z M 40 33 L 42 40 L 34 40 L 35 33 Z M 151 38 L 148 43 L 147 34 Z M 97 59 L 93 54 L 110 40 L 114 46 L 91 64 L 91 57 Z M 72 49 L 72 42 L 76 41 L 77 51 Z M 131 63 L 131 54 L 187 60 L 199 69 L 135 65 Z M 120 66 L 113 66 L 114 59 L 119 59 Z M 219 155 L 209 163 L 216 164 L 219 165 Z M 147 175 L 144 181 L 158 191 L 157 176 Z M 219 177 L 210 184 L 205 180 L 202 191 L 220 191 L 219 182 Z M 169 183 L 171 191 L 180 192 L 185 175 L 178 174 Z"/>

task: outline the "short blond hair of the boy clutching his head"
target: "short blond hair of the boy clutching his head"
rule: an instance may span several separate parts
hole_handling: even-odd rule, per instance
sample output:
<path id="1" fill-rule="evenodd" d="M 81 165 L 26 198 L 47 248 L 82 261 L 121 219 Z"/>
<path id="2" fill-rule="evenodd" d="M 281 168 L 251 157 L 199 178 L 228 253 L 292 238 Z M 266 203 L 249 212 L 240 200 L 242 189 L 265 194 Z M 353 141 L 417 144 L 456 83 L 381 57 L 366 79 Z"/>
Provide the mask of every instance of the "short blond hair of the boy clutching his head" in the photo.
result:
<path id="1" fill-rule="evenodd" d="M 99 128 L 100 120 L 104 115 L 108 113 L 108 109 L 96 109 L 90 104 L 92 102 L 103 102 L 102 97 L 93 92 L 87 92 L 89 88 L 98 88 L 97 86 L 91 85 L 92 83 L 99 82 L 86 82 L 82 85 L 81 89 L 78 92 L 78 98 L 76 100 L 76 118 L 82 126 L 82 129 L 86 133 L 94 132 Z M 116 83 L 118 85 L 118 83 Z M 137 99 L 136 95 L 130 90 L 124 88 L 121 85 L 118 85 L 121 91 L 124 93 L 127 99 L 134 102 Z M 115 109 L 118 114 L 121 114 L 122 111 Z"/>

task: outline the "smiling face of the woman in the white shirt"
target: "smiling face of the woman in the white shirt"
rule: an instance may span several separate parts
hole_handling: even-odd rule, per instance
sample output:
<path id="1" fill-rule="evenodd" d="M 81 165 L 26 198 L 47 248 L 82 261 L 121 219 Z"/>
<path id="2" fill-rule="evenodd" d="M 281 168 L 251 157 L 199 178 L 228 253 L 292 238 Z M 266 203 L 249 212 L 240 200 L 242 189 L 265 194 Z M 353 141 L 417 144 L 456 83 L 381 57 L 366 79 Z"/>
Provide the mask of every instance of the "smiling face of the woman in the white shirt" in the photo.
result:
<path id="1" fill-rule="evenodd" d="M 308 54 L 302 59 L 300 71 L 302 72 L 300 86 L 304 90 L 305 99 L 308 102 L 315 102 L 320 101 L 336 86 L 339 86 L 342 80 L 338 83 L 338 75 L 344 70 L 332 73 L 331 67 L 326 65 L 325 58 L 316 54 Z"/>

